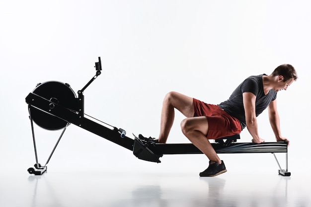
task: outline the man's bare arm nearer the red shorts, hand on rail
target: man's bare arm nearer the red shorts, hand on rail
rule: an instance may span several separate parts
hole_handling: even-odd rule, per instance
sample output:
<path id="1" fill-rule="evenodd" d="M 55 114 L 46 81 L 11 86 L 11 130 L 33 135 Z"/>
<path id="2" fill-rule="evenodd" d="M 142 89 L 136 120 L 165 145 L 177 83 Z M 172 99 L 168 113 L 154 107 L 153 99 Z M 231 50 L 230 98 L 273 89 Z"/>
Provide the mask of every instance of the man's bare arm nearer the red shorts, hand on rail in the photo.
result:
<path id="1" fill-rule="evenodd" d="M 251 92 L 243 93 L 243 105 L 245 111 L 245 121 L 247 130 L 253 137 L 252 139 L 253 142 L 261 143 L 265 140 L 260 138 L 258 135 L 255 103 L 256 103 L 256 96 L 253 93 Z"/>

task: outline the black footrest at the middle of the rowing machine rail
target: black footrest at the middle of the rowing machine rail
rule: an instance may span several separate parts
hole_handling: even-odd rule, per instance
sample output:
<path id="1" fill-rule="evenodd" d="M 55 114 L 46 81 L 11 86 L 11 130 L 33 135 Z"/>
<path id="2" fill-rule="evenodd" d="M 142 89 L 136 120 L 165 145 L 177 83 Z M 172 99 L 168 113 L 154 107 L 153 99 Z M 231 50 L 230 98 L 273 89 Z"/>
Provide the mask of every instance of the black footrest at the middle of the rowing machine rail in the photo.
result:
<path id="1" fill-rule="evenodd" d="M 133 154 L 139 159 L 157 163 L 161 162 L 159 158 L 163 156 L 162 154 L 155 154 L 152 150 L 149 149 L 148 143 L 143 142 L 140 138 L 137 137 L 135 137 L 134 140 Z"/>

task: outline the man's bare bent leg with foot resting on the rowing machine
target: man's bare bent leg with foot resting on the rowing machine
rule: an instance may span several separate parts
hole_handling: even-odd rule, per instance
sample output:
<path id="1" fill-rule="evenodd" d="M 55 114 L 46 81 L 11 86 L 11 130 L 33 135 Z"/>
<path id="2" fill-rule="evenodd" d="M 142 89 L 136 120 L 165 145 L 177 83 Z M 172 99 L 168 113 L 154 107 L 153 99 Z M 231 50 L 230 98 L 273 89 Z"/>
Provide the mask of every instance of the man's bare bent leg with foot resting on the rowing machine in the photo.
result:
<path id="1" fill-rule="evenodd" d="M 175 108 L 186 117 L 193 117 L 193 98 L 177 92 L 169 92 L 165 95 L 161 112 L 160 134 L 158 137 L 160 143 L 166 143 L 174 122 Z"/>

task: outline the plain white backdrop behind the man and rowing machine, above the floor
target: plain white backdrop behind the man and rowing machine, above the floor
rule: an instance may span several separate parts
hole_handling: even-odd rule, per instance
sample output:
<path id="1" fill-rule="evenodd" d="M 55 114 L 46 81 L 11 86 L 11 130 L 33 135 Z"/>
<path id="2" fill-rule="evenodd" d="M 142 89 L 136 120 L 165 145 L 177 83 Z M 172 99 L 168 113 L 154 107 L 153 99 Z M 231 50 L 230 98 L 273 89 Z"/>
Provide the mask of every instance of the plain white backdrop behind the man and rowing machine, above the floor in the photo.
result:
<path id="1" fill-rule="evenodd" d="M 299 79 L 278 93 L 278 109 L 282 135 L 291 140 L 289 171 L 307 174 L 311 14 L 306 2 L 1 0 L 1 168 L 27 173 L 35 163 L 25 103 L 35 85 L 58 80 L 77 93 L 95 74 L 100 56 L 102 74 L 84 91 L 85 113 L 125 129 L 130 138 L 158 136 L 162 99 L 169 91 L 218 104 L 247 76 L 292 64 Z M 180 131 L 182 119 L 176 112 L 168 143 L 189 142 Z M 261 138 L 275 140 L 266 111 L 258 117 L 258 129 Z M 35 126 L 41 164 L 60 133 Z M 245 129 L 240 141 L 250 140 Z M 220 156 L 233 172 L 277 173 L 271 154 Z M 164 155 L 161 161 L 139 160 L 71 125 L 48 168 L 197 174 L 208 165 L 204 155 Z"/>

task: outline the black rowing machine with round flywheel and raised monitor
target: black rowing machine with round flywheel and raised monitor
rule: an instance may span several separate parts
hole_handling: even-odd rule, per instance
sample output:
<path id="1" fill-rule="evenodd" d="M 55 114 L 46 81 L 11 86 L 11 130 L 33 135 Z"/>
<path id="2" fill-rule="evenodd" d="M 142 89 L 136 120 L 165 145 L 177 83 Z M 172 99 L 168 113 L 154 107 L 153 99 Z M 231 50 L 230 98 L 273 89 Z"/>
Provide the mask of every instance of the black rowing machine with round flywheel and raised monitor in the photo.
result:
<path id="1" fill-rule="evenodd" d="M 35 151 L 36 163 L 34 167 L 28 169 L 30 174 L 42 175 L 47 171 L 47 164 L 50 161 L 59 141 L 65 133 L 65 130 L 70 124 L 74 124 L 84 130 L 96 134 L 102 138 L 108 139 L 124 148 L 133 151 L 133 154 L 142 160 L 159 163 L 159 157 L 164 154 L 201 154 L 202 152 L 191 143 L 164 144 L 156 143 L 153 138 L 145 138 L 139 136 L 129 138 L 126 132 L 100 120 L 102 124 L 98 124 L 85 116 L 84 114 L 84 90 L 101 74 L 101 60 L 95 63 L 96 74 L 90 81 L 81 89 L 78 90 L 78 97 L 68 83 L 59 81 L 48 81 L 39 83 L 35 89 L 26 97 L 28 104 L 29 118 L 31 122 L 31 130 Z M 90 117 L 90 116 L 88 116 Z M 90 117 L 92 118 L 92 117 Z M 94 118 L 93 118 L 94 119 Z M 47 162 L 41 166 L 38 162 L 34 125 L 46 130 L 61 130 L 61 136 L 58 138 Z M 290 176 L 288 172 L 288 152 L 287 142 L 264 142 L 264 143 L 236 143 L 239 135 L 216 139 L 216 143 L 212 146 L 217 153 L 272 153 L 279 165 L 279 174 Z M 275 153 L 286 153 L 286 170 L 283 170 L 275 156 Z"/>

